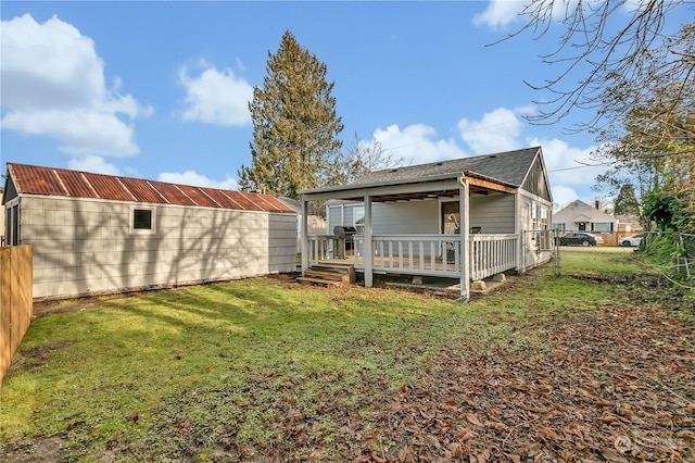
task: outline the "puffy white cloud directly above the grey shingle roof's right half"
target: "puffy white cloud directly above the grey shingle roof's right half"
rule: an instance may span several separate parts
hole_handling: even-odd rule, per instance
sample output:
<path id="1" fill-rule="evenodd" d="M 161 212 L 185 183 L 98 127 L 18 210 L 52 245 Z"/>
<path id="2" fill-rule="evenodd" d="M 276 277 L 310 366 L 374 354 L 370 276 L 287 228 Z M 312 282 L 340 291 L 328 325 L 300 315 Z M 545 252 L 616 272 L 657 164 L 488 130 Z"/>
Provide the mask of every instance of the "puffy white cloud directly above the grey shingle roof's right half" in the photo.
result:
<path id="1" fill-rule="evenodd" d="M 519 148 L 522 123 L 506 108 L 485 113 L 480 121 L 463 118 L 458 122 L 460 138 L 476 154 L 509 151 Z"/>

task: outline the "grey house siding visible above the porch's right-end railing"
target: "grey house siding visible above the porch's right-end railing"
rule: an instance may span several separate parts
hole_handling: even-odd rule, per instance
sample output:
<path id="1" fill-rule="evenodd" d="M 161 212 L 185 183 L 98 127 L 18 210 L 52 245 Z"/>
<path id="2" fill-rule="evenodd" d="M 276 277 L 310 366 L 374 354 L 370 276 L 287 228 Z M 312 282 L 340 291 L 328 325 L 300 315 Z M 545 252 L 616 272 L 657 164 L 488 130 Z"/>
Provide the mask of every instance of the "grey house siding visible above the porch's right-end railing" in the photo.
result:
<path id="1" fill-rule="evenodd" d="M 483 234 L 513 234 L 514 195 L 475 195 L 470 197 L 470 226 Z"/>

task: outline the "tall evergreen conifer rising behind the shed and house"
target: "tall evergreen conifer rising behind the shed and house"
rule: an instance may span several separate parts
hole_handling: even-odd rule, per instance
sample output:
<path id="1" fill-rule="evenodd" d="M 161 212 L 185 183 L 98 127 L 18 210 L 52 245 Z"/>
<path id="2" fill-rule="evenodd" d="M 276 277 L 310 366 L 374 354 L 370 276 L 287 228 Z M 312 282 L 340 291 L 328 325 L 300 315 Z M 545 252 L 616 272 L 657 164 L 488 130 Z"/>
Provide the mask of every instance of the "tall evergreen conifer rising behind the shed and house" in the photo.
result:
<path id="1" fill-rule="evenodd" d="M 326 64 L 288 30 L 277 53 L 268 52 L 266 72 L 249 103 L 251 165 L 238 172 L 240 188 L 299 199 L 301 189 L 337 184 L 342 147 L 337 136 L 343 124 Z"/>

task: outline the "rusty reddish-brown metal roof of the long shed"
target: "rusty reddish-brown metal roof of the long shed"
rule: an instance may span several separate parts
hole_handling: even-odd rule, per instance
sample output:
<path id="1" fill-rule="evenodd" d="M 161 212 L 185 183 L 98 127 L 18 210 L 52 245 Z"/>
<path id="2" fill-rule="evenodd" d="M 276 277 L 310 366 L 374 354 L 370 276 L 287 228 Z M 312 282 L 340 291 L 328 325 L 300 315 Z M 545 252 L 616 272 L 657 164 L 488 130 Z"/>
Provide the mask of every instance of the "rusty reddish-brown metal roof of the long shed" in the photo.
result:
<path id="1" fill-rule="evenodd" d="M 8 163 L 8 172 L 18 195 L 294 213 L 290 207 L 277 198 L 258 192 L 192 187 L 13 162 Z"/>

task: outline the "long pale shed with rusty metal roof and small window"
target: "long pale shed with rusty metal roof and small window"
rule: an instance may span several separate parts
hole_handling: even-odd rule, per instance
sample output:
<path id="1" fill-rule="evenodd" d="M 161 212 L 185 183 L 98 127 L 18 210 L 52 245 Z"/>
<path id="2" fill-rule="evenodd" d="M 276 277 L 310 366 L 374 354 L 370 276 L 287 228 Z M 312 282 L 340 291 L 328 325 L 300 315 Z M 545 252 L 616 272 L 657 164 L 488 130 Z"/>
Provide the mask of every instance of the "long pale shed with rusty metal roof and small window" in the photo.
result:
<path id="1" fill-rule="evenodd" d="M 34 248 L 34 297 L 293 272 L 296 215 L 276 198 L 8 163 L 8 245 Z"/>

